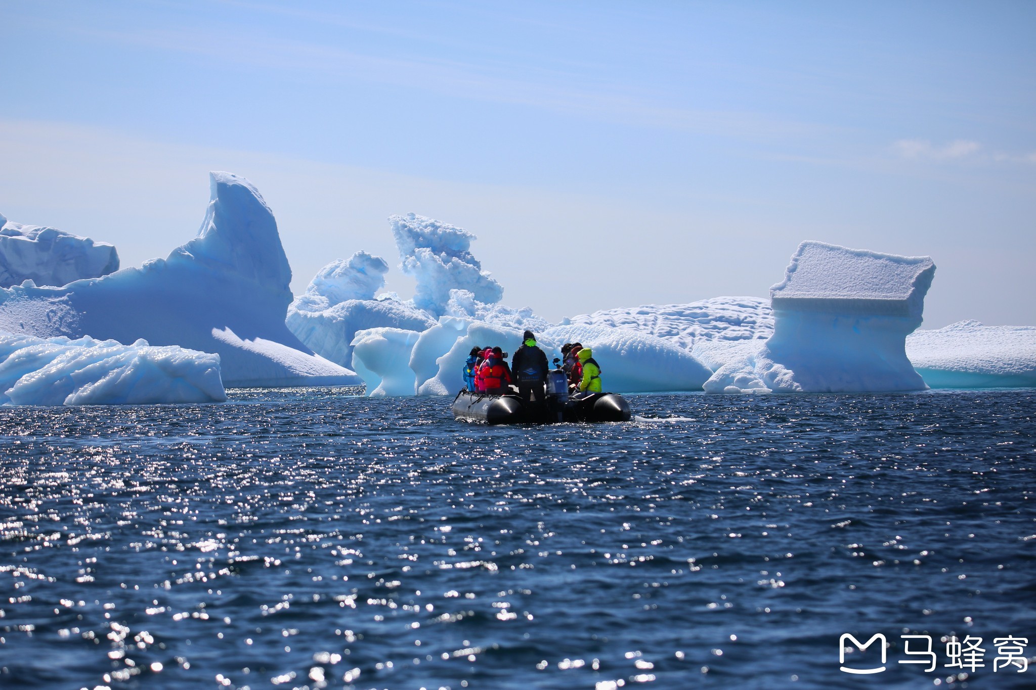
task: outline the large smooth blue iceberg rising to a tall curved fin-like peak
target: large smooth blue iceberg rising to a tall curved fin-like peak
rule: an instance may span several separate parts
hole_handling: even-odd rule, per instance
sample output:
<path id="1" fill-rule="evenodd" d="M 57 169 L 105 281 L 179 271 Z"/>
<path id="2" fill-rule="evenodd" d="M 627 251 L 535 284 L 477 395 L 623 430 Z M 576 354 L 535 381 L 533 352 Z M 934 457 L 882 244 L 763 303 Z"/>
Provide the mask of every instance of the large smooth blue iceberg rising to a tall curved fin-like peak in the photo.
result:
<path id="1" fill-rule="evenodd" d="M 230 173 L 211 173 L 209 186 L 197 237 L 167 259 L 63 288 L 0 290 L 0 329 L 215 353 L 225 386 L 358 384 L 285 325 L 291 269 L 259 191 Z"/>

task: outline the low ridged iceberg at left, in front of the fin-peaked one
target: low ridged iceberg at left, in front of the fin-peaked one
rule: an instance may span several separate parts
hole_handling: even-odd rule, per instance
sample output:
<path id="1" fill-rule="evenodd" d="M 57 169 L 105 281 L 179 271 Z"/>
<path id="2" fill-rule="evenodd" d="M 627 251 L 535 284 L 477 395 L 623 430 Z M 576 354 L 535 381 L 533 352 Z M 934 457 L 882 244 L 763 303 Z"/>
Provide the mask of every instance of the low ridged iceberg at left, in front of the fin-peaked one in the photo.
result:
<path id="1" fill-rule="evenodd" d="M 220 357 L 146 340 L 0 333 L 0 404 L 222 402 Z"/>

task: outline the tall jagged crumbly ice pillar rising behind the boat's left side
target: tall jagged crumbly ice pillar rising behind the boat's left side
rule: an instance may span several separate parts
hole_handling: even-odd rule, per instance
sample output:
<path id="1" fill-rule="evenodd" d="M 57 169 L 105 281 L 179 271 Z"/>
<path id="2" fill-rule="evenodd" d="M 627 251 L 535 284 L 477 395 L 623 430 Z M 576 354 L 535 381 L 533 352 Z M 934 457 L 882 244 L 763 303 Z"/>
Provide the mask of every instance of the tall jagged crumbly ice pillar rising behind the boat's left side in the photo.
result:
<path id="1" fill-rule="evenodd" d="M 413 303 L 434 317 L 447 312 L 451 290 L 466 290 L 484 304 L 495 304 L 503 288 L 470 251 L 474 235 L 414 213 L 388 217 L 402 259 L 400 268 L 416 280 Z"/>

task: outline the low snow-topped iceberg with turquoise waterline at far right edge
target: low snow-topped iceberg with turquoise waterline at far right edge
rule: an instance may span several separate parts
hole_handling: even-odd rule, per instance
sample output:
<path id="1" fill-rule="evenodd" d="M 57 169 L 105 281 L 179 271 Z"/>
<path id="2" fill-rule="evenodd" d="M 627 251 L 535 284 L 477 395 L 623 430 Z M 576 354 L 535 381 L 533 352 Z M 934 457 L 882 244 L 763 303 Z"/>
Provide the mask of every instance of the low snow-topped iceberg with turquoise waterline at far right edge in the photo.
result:
<path id="1" fill-rule="evenodd" d="M 906 356 L 931 388 L 1036 386 L 1036 327 L 961 321 L 906 336 Z"/>

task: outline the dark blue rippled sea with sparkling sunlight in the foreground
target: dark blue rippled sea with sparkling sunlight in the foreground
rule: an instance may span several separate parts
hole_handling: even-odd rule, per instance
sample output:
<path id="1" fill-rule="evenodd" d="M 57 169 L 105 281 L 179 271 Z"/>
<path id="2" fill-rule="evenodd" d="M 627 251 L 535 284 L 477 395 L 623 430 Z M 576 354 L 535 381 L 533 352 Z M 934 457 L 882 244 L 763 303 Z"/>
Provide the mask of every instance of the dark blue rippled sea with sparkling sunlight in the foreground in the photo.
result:
<path id="1" fill-rule="evenodd" d="M 0 408 L 0 687 L 1036 687 L 1036 391 L 349 392 Z"/>

